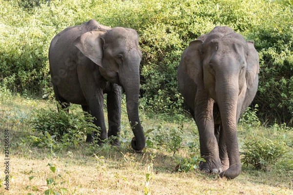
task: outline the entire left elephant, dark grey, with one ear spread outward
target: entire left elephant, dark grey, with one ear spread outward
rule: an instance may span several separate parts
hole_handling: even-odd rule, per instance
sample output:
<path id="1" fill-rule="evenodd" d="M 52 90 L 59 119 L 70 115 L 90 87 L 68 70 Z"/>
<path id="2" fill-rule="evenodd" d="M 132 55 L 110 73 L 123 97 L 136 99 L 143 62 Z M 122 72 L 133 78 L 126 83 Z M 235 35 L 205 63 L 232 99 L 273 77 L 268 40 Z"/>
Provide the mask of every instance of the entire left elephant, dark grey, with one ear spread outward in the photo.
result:
<path id="1" fill-rule="evenodd" d="M 141 58 L 138 35 L 133 29 L 111 29 L 95 20 L 70 26 L 53 38 L 49 48 L 56 100 L 63 107 L 68 107 L 70 102 L 82 105 L 84 111 L 96 118 L 94 124 L 101 128 L 99 138 L 104 140 L 117 136 L 120 131 L 122 86 L 134 134 L 131 145 L 140 151 L 146 142 L 138 114 Z M 105 93 L 108 134 L 103 113 Z M 93 137 L 87 135 L 86 141 L 92 142 Z M 113 145 L 119 146 L 119 140 L 114 140 Z"/>

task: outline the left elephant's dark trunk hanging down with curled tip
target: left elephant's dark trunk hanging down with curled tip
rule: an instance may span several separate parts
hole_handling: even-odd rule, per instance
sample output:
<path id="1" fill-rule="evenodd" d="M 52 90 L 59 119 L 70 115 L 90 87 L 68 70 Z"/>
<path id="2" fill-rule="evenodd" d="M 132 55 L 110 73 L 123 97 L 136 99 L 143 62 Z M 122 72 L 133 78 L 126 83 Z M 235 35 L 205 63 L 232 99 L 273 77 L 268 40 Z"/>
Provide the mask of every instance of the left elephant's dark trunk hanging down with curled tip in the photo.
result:
<path id="1" fill-rule="evenodd" d="M 131 140 L 131 146 L 134 150 L 141 151 L 146 145 L 146 138 L 138 114 L 138 100 L 140 89 L 139 75 L 140 60 L 133 58 L 121 72 L 120 82 L 126 93 L 126 108 L 129 123 L 134 137 Z"/>

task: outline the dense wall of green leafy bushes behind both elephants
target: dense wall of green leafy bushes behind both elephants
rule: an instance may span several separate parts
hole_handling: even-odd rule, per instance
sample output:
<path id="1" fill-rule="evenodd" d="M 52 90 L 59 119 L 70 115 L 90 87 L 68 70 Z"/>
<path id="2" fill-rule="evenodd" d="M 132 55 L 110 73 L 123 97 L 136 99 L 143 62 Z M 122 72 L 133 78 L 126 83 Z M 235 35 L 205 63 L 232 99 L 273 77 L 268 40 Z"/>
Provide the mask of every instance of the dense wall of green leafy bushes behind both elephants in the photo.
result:
<path id="1" fill-rule="evenodd" d="M 292 0 L 0 0 L 0 87 L 41 97 L 51 87 L 51 39 L 95 19 L 139 33 L 142 107 L 182 113 L 176 77 L 182 52 L 216 25 L 228 25 L 259 53 L 258 116 L 292 125 L 292 6 Z"/>

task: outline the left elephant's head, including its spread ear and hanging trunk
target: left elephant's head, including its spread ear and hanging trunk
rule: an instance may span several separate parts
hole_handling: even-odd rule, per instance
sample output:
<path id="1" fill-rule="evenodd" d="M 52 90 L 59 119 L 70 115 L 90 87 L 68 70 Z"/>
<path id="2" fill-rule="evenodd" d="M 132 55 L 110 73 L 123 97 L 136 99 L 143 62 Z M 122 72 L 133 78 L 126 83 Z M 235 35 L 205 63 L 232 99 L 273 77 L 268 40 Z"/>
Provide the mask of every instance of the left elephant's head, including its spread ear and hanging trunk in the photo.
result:
<path id="1" fill-rule="evenodd" d="M 135 150 L 142 150 L 145 136 L 138 114 L 142 52 L 136 31 L 123 27 L 90 31 L 81 35 L 75 46 L 100 66 L 100 73 L 106 80 L 124 88 L 128 119 L 134 133 L 131 145 Z"/>

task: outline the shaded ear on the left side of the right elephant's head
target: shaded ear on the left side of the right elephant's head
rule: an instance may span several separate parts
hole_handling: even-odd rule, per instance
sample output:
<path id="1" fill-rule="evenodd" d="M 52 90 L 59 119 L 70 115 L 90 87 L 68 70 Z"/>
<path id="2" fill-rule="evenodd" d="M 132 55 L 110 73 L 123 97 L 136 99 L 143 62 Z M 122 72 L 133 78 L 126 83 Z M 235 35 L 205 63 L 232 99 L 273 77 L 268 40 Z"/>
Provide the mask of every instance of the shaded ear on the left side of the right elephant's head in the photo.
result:
<path id="1" fill-rule="evenodd" d="M 197 86 L 201 86 L 203 66 L 202 66 L 202 40 L 193 40 L 183 54 L 183 66 L 188 76 L 193 79 Z"/>

